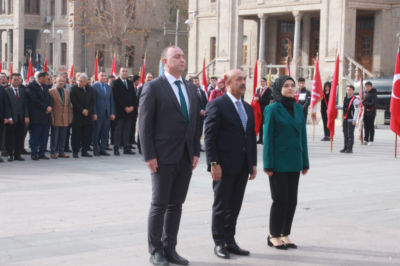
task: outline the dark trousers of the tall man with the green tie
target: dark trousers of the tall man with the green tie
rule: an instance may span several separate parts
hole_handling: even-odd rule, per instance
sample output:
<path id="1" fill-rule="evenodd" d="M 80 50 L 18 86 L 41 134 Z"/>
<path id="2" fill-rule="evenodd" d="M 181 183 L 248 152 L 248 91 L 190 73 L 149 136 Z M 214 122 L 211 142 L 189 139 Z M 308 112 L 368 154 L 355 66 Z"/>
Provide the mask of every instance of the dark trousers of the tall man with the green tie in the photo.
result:
<path id="1" fill-rule="evenodd" d="M 152 196 L 147 219 L 148 253 L 175 250 L 182 204 L 186 199 L 192 164 L 185 146 L 176 164 L 158 164 L 151 173 Z"/>

